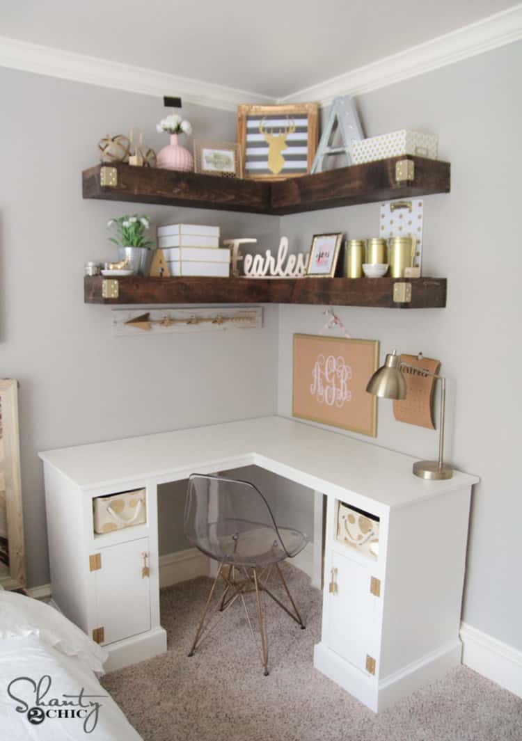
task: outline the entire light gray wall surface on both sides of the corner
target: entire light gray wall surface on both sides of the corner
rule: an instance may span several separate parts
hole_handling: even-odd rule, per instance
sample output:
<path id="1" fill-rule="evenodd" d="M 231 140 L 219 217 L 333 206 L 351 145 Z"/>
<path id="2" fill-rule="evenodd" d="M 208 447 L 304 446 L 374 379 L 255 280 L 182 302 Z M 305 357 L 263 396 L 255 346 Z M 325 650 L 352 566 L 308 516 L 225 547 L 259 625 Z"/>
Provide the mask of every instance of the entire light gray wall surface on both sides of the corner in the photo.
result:
<path id="1" fill-rule="evenodd" d="M 516 648 L 522 648 L 521 594 L 513 586 L 522 516 L 514 393 L 521 361 L 521 62 L 522 44 L 512 44 L 360 97 L 368 135 L 432 130 L 440 158 L 452 162 L 452 193 L 425 200 L 424 273 L 448 277 L 449 301 L 445 310 L 337 310 L 353 336 L 380 340 L 381 359 L 397 347 L 443 361 L 447 455 L 481 477 L 463 617 Z M 110 255 L 105 222 L 126 208 L 82 201 L 80 172 L 96 161 L 96 142 L 108 131 L 139 125 L 151 132 L 151 144 L 161 145 L 153 133 L 160 102 L 10 70 L 0 70 L 0 90 L 9 111 L 0 118 L 0 376 L 22 384 L 27 565 L 29 584 L 39 585 L 48 571 L 36 451 L 276 408 L 290 415 L 291 336 L 317 333 L 323 316 L 320 308 L 270 307 L 259 333 L 113 339 L 110 310 L 83 303 L 82 265 Z M 184 112 L 199 136 L 234 137 L 233 113 Z M 379 213 L 368 205 L 278 220 L 143 210 L 162 221 L 219 223 L 225 237 L 246 233 L 267 245 L 287 234 L 296 250 L 328 230 L 371 236 Z M 395 422 L 391 402 L 380 402 L 377 439 L 365 439 L 416 456 L 436 452 L 436 433 Z M 169 539 L 176 534 L 162 536 L 163 552 L 174 550 Z"/>

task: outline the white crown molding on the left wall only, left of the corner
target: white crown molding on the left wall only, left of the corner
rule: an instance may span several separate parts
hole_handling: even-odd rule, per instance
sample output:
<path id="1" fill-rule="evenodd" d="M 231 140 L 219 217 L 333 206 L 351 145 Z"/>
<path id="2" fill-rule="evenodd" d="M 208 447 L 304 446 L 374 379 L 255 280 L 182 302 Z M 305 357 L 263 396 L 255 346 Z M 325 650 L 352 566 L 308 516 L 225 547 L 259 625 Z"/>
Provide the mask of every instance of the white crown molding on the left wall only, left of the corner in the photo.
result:
<path id="1" fill-rule="evenodd" d="M 0 67 L 59 77 L 75 82 L 155 96 L 180 96 L 184 103 L 237 110 L 241 103 L 274 103 L 275 99 L 234 87 L 179 77 L 145 67 L 110 62 L 0 36 Z"/>

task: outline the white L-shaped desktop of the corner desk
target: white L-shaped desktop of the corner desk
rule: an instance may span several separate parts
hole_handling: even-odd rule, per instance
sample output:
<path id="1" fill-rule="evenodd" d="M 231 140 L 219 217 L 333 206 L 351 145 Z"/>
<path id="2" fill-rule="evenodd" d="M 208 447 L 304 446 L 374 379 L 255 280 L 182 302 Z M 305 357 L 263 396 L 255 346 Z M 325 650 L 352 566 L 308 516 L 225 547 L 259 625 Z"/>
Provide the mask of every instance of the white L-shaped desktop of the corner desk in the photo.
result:
<path id="1" fill-rule="evenodd" d="M 280 416 L 78 445 L 39 453 L 83 489 L 136 479 L 159 482 L 179 473 L 260 465 L 317 491 L 357 492 L 389 507 L 471 486 L 476 476 L 455 471 L 448 481 L 414 476 L 414 458 Z M 209 465 L 216 463 L 216 468 Z M 169 479 L 169 477 L 172 477 Z"/>

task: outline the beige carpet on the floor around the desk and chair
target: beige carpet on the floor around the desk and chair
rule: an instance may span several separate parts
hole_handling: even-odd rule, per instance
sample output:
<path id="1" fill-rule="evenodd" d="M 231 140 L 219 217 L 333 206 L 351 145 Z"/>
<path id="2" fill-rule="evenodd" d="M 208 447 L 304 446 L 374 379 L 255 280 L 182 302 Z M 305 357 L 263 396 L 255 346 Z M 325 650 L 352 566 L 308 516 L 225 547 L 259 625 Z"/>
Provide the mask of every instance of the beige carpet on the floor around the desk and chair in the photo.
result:
<path id="1" fill-rule="evenodd" d="M 103 680 L 145 741 L 522 740 L 522 700 L 465 667 L 374 715 L 313 668 L 320 592 L 303 572 L 285 566 L 285 574 L 307 628 L 265 598 L 269 677 L 239 602 L 188 658 L 211 581 L 162 590 L 168 652 Z"/>

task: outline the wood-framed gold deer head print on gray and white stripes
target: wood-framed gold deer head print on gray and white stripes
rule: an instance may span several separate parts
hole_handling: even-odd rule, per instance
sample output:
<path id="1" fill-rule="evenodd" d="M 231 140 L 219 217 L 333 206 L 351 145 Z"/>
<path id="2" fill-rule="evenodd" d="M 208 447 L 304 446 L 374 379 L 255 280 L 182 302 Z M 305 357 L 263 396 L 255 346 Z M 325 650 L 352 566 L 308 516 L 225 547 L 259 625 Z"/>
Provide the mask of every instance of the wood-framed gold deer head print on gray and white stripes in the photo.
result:
<path id="1" fill-rule="evenodd" d="M 240 105 L 237 142 L 250 180 L 307 175 L 317 149 L 317 103 Z"/>

